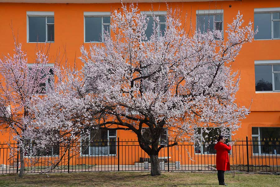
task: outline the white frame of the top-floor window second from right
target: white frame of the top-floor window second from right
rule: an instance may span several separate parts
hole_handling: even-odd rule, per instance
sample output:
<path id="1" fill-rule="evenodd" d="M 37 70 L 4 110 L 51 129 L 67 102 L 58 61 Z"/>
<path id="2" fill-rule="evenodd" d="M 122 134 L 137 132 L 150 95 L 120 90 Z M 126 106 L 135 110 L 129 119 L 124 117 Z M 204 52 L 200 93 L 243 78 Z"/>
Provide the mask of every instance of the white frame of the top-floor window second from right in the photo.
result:
<path id="1" fill-rule="evenodd" d="M 222 36 L 224 37 L 224 10 L 223 9 L 218 9 L 218 10 L 196 10 L 196 24 L 198 22 L 197 20 L 197 16 L 201 16 L 201 15 L 214 15 L 213 17 L 213 28 L 214 28 L 214 32 L 216 30 L 215 28 L 215 23 L 219 22 L 222 23 Z M 215 21 L 215 15 L 222 15 L 222 20 L 220 21 Z M 196 30 L 198 29 L 198 25 L 196 25 Z M 212 32 L 212 31 L 211 31 Z M 219 40 L 219 39 L 216 39 Z"/>

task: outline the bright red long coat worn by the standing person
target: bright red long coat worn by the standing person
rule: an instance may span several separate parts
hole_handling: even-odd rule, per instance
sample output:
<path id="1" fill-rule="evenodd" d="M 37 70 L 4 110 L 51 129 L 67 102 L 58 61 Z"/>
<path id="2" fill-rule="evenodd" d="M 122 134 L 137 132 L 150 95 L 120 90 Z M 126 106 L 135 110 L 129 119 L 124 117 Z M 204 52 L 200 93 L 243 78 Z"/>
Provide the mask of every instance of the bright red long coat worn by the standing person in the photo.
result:
<path id="1" fill-rule="evenodd" d="M 227 146 L 222 142 L 218 142 L 214 149 L 217 150 L 216 155 L 216 169 L 222 171 L 229 171 L 230 170 L 230 163 L 228 157 L 228 151 L 231 150 L 231 146 Z"/>

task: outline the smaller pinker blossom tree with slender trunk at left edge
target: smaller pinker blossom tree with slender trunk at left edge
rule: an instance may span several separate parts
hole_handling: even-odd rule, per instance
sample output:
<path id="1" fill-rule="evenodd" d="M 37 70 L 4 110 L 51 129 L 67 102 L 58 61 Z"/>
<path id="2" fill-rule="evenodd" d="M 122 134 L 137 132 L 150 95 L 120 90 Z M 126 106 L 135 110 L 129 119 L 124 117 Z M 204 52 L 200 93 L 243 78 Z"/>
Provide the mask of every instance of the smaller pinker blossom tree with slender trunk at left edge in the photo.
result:
<path id="1" fill-rule="evenodd" d="M 48 47 L 38 50 L 33 64 L 28 65 L 27 54 L 14 37 L 14 54 L 0 59 L 0 129 L 9 132 L 17 142 L 20 153 L 20 174 L 24 172 L 26 138 L 23 136 L 32 118 L 30 100 L 45 93 L 49 79 Z M 46 53 L 44 53 L 44 51 Z M 32 63 L 32 61 L 31 61 Z M 31 118 L 30 118 L 31 117 Z"/>

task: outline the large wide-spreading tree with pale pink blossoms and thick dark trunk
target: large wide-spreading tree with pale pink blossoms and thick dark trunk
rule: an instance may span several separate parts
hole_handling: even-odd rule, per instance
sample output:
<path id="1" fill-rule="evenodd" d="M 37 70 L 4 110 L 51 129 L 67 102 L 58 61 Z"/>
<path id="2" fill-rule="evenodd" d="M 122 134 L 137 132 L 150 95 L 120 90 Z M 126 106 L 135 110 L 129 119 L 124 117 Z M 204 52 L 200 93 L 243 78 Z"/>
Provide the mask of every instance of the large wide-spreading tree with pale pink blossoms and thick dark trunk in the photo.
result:
<path id="1" fill-rule="evenodd" d="M 252 41 L 252 22 L 243 26 L 238 12 L 225 36 L 219 30 L 190 33 L 180 15 L 170 8 L 162 32 L 153 14 L 148 38 L 148 17 L 137 5 L 115 10 L 104 43 L 93 43 L 89 51 L 81 47 L 83 69 L 57 70 L 59 84 L 43 100 L 37 97 L 40 102 L 34 100 L 33 111 L 39 112 L 33 125 L 41 121 L 35 129 L 42 134 L 46 128 L 65 129 L 73 139 L 79 130 L 89 133 L 89 127 L 131 130 L 150 157 L 152 176 L 161 175 L 161 148 L 181 140 L 205 141 L 198 127 L 206 133 L 208 127 L 221 134 L 238 130 L 250 106 L 236 103 L 240 75 L 231 64 L 242 45 Z M 174 143 L 159 145 L 164 128 Z"/>

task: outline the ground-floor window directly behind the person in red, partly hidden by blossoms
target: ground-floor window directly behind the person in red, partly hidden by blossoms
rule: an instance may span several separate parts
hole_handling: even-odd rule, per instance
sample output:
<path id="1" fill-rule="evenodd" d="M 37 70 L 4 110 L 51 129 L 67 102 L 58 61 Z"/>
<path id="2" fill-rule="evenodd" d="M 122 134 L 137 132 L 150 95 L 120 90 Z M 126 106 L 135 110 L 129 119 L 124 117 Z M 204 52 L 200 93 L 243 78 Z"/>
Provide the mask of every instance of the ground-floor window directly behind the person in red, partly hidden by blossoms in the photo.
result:
<path id="1" fill-rule="evenodd" d="M 208 143 L 208 145 L 202 144 L 202 145 L 197 145 L 195 147 L 195 153 L 200 153 L 200 154 L 216 154 L 216 150 L 214 149 L 215 146 L 215 140 L 217 139 L 217 136 L 220 135 L 221 129 L 220 128 L 207 128 L 209 131 L 208 133 L 205 132 L 202 128 L 198 128 L 197 132 L 200 134 L 201 139 L 202 137 L 205 140 L 205 143 Z M 226 144 L 230 140 L 230 135 L 226 135 Z M 201 142 L 202 143 L 202 142 Z M 230 152 L 230 151 L 229 151 Z"/>

